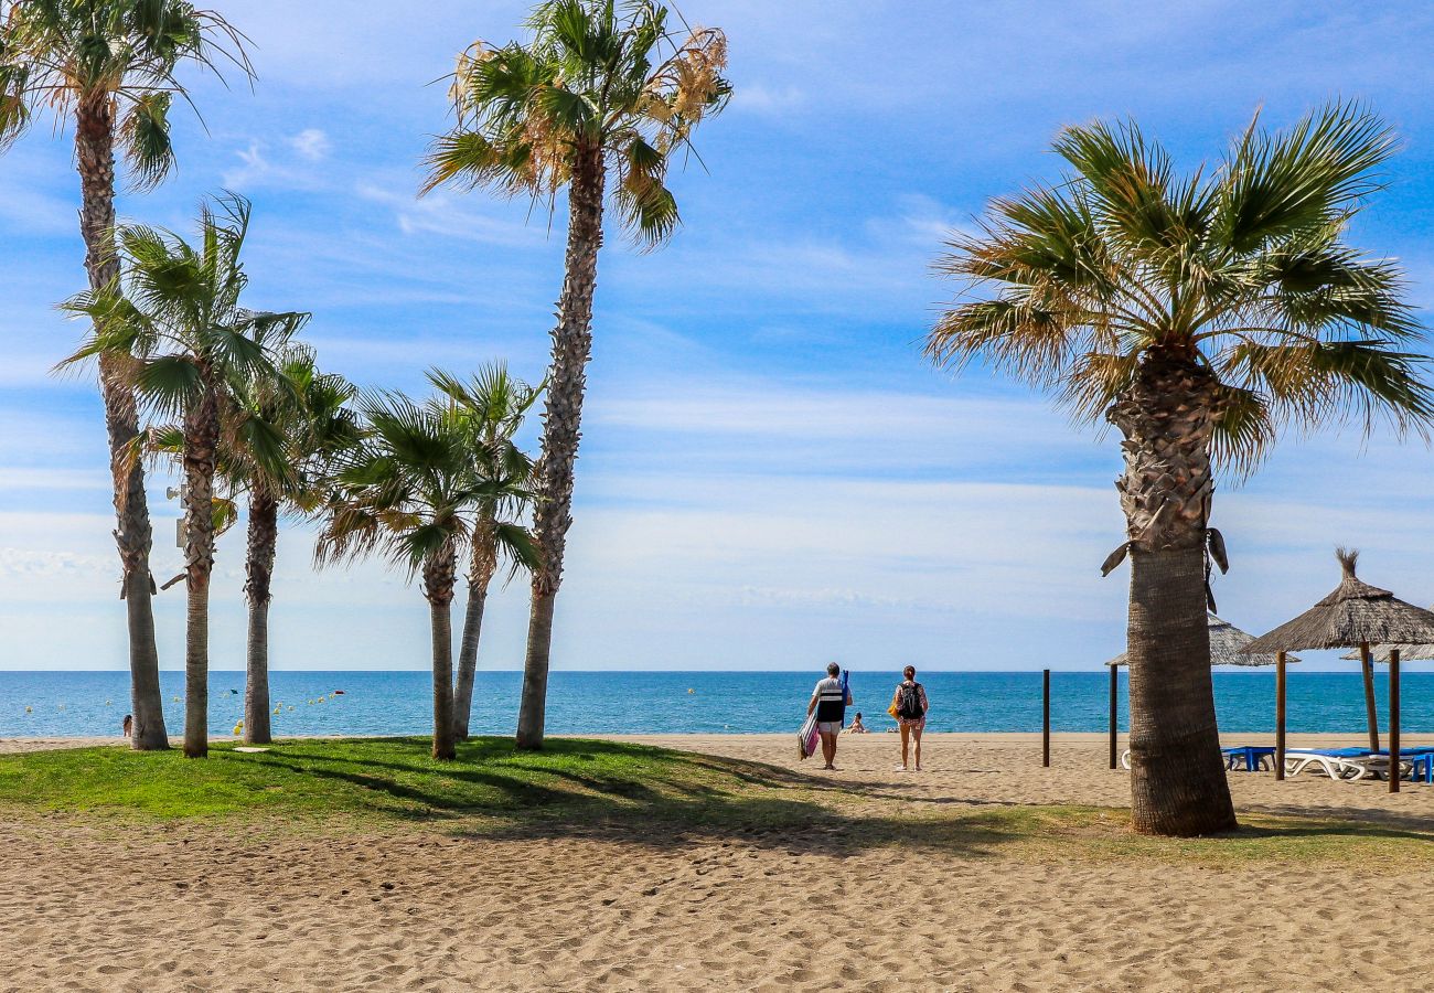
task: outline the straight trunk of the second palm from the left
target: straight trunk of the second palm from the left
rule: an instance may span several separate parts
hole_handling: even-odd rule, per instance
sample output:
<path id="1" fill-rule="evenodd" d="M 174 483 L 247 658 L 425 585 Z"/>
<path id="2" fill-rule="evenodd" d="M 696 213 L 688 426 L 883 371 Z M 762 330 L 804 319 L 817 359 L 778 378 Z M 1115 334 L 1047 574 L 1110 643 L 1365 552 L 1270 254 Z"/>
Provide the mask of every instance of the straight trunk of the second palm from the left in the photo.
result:
<path id="1" fill-rule="evenodd" d="M 185 623 L 184 753 L 209 755 L 209 575 L 214 573 L 214 468 L 219 413 L 208 393 L 185 413 L 184 474 L 189 488 L 185 508 Z"/>

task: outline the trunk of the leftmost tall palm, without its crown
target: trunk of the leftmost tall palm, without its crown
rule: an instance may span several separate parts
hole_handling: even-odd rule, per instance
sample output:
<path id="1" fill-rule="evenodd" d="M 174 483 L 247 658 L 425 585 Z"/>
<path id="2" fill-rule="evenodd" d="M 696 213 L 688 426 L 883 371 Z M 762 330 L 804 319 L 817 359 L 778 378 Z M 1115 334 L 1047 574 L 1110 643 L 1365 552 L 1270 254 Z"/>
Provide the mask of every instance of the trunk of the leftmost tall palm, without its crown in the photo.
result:
<path id="1" fill-rule="evenodd" d="M 80 174 L 80 234 L 85 271 L 92 290 L 119 274 L 115 257 L 115 113 L 108 98 L 83 102 L 76 112 L 76 168 Z M 119 547 L 120 598 L 129 629 L 129 695 L 133 713 L 130 748 L 169 748 L 163 697 L 159 690 L 159 651 L 155 646 L 155 581 L 149 574 L 153 532 L 145 501 L 145 466 L 133 452 L 139 435 L 135 393 L 122 376 L 122 359 L 100 356 L 99 382 L 109 435 L 109 468 L 115 482 L 115 544 Z"/>

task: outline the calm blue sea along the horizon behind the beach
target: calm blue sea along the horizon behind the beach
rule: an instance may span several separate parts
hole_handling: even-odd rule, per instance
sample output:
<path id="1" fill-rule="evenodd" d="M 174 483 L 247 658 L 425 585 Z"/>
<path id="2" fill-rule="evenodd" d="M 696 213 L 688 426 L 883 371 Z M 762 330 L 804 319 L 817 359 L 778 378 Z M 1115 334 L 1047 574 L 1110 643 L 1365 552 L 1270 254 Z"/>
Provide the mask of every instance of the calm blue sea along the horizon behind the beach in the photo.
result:
<path id="1" fill-rule="evenodd" d="M 783 732 L 794 730 L 820 673 L 595 673 L 555 672 L 549 680 L 548 729 L 554 733 Z M 1384 712 L 1384 673 L 1378 680 Z M 161 674 L 169 730 L 184 728 L 184 673 Z M 480 672 L 473 729 L 512 732 L 522 674 Z M 1040 673 L 923 673 L 931 730 L 1040 730 Z M 891 723 L 886 703 L 895 674 L 853 673 L 856 709 L 873 728 Z M 1053 673 L 1051 722 L 1057 730 L 1104 730 L 1106 673 Z M 334 696 L 334 690 L 344 690 Z M 1434 732 L 1434 673 L 1404 676 L 1402 726 Z M 275 735 L 424 733 L 432 720 L 430 680 L 422 672 L 275 672 L 271 676 Z M 693 692 L 688 692 L 693 690 Z M 1216 673 L 1220 728 L 1269 732 L 1275 715 L 1273 673 Z M 227 735 L 244 712 L 244 674 L 215 672 L 209 682 L 209 730 Z M 318 697 L 326 697 L 321 703 Z M 1124 676 L 1121 676 L 1124 722 Z M 26 712 L 26 707 L 30 707 Z M 112 735 L 129 710 L 129 676 L 105 673 L 0 672 L 0 738 Z M 1291 673 L 1289 729 L 1349 732 L 1364 725 L 1358 673 Z M 1121 723 L 1124 726 L 1124 723 Z"/>

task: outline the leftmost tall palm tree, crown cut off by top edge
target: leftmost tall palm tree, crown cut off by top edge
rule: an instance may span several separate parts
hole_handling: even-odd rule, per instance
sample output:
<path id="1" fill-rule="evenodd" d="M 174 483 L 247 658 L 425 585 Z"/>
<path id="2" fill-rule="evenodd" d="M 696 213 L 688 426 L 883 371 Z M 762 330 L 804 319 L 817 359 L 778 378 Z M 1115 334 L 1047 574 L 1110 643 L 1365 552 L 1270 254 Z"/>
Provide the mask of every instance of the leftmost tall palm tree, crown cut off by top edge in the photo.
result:
<path id="1" fill-rule="evenodd" d="M 52 108 L 62 121 L 73 116 L 93 293 L 103 293 L 119 271 L 112 234 L 116 146 L 136 188 L 161 182 L 174 165 L 169 106 L 185 95 L 178 67 L 192 62 L 212 69 L 221 57 L 251 76 L 242 42 L 222 17 L 184 0 L 0 0 L 0 151 L 26 131 L 36 108 Z M 151 604 L 152 531 L 143 463 L 130 456 L 139 413 L 118 356 L 100 354 L 99 382 L 129 626 L 130 740 L 136 749 L 163 749 L 169 738 Z"/>

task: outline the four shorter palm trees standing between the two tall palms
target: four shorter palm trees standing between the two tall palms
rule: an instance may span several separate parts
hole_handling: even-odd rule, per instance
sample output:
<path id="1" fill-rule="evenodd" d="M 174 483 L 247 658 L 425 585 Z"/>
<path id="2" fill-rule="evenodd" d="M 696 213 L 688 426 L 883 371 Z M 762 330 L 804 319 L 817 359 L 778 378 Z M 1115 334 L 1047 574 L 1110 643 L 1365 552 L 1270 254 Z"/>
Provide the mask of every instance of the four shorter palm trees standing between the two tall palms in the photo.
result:
<path id="1" fill-rule="evenodd" d="M 128 453 L 182 469 L 185 568 L 184 750 L 208 752 L 209 577 L 215 538 L 248 504 L 244 739 L 270 740 L 268 607 L 281 512 L 320 524 L 317 558 L 383 552 L 420 571 L 433 613 L 435 756 L 467 735 L 488 584 L 506 558 L 535 568 L 522 522 L 532 461 L 513 442 L 541 389 L 489 366 L 469 382 L 433 370 L 433 397 L 357 392 L 298 342 L 307 313 L 242 306 L 250 204 L 206 205 L 199 238 L 142 225 L 115 231 L 120 277 L 63 307 L 92 331 L 66 363 L 108 360 L 151 418 Z M 126 463 L 126 472 L 132 466 Z M 457 555 L 472 550 L 455 705 L 449 607 Z M 165 584 L 166 587 L 169 584 Z"/>

